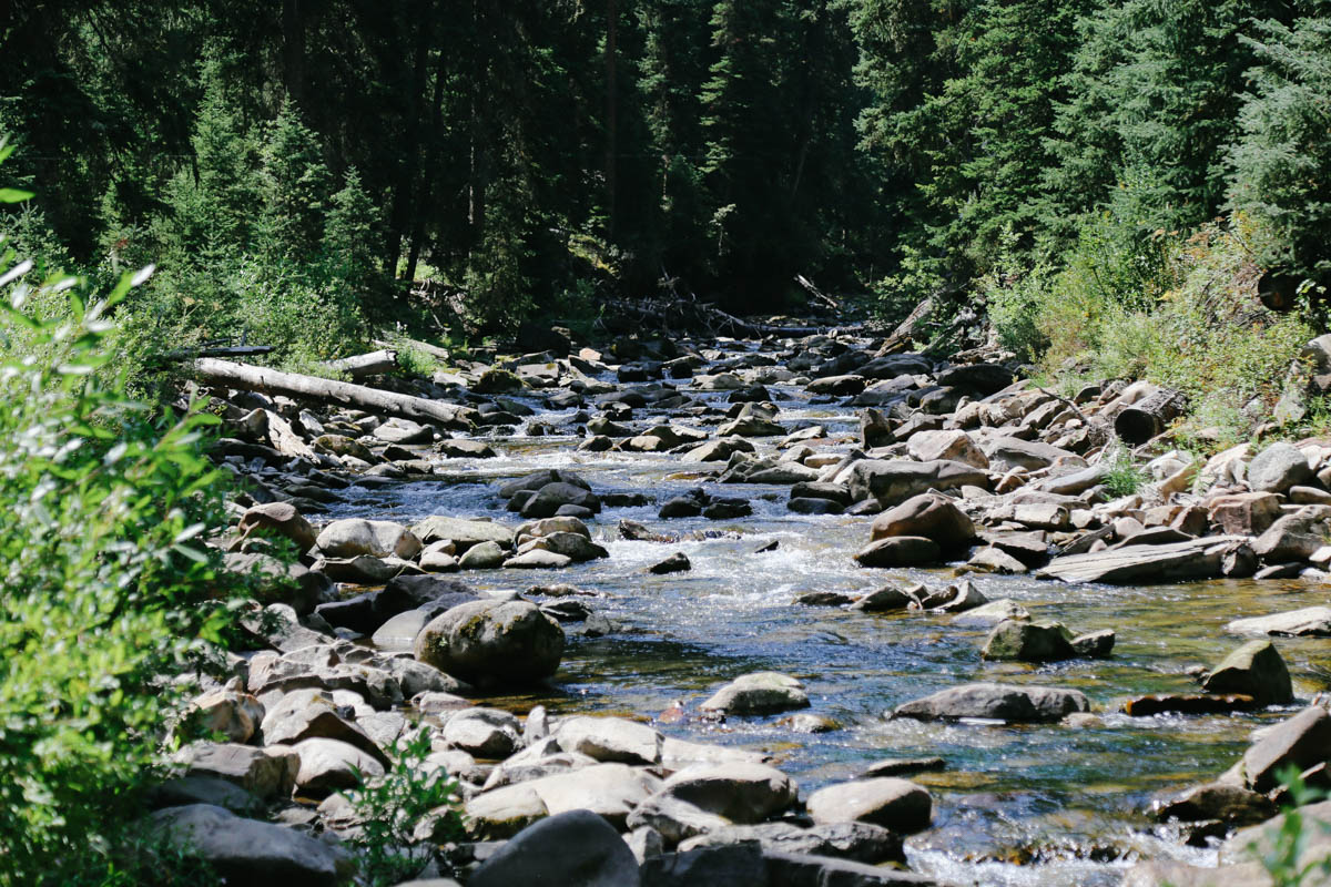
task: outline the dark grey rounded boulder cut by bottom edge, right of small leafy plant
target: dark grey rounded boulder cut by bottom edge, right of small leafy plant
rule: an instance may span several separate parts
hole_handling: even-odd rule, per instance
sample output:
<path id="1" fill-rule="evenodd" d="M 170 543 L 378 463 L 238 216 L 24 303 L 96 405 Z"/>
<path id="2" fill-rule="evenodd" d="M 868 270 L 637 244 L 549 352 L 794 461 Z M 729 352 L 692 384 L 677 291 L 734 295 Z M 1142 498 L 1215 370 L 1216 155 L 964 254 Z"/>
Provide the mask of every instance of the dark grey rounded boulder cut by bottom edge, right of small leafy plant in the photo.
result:
<path id="1" fill-rule="evenodd" d="M 638 887 L 638 860 L 614 826 L 570 810 L 518 832 L 486 859 L 469 887 Z"/>

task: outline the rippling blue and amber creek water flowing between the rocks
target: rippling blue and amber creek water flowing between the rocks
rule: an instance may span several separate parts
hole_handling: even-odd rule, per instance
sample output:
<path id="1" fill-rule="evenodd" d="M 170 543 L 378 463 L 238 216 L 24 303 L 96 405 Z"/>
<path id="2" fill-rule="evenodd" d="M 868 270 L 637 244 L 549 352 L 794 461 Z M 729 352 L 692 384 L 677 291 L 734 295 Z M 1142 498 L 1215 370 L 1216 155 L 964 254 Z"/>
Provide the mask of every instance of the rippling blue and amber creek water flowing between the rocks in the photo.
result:
<path id="1" fill-rule="evenodd" d="M 724 395 L 696 394 L 724 404 Z M 829 436 L 852 432 L 855 411 L 811 404 L 803 388 L 768 386 L 788 427 L 820 423 Z M 570 412 L 539 410 L 531 422 L 559 426 Z M 660 415 L 635 411 L 635 420 Z M 681 420 L 680 424 L 691 424 Z M 852 435 L 853 436 L 853 435 Z M 696 465 L 676 456 L 576 452 L 580 438 L 514 435 L 494 439 L 499 459 L 446 461 L 446 476 L 362 491 L 337 516 L 414 521 L 429 515 L 488 516 L 512 524 L 496 496 L 498 481 L 538 468 L 572 468 L 598 493 L 646 492 L 659 501 L 700 483 Z M 832 448 L 833 452 L 849 444 Z M 761 449 L 761 445 L 760 445 Z M 978 577 L 989 597 L 1009 597 L 1037 618 L 1075 632 L 1114 629 L 1114 656 L 1044 666 L 985 664 L 985 629 L 960 628 L 946 616 L 865 614 L 792 601 L 809 590 L 865 592 L 888 582 L 946 584 L 949 569 L 865 570 L 851 560 L 869 533 L 868 517 L 800 516 L 785 509 L 788 488 L 705 484 L 709 492 L 753 499 L 753 516 L 733 521 L 663 521 L 656 507 L 607 508 L 592 535 L 608 560 L 558 572 L 465 573 L 478 589 L 524 589 L 571 582 L 602 593 L 590 602 L 615 630 L 570 636 L 552 686 L 528 697 L 490 701 L 515 711 L 538 702 L 552 713 L 604 713 L 652 718 L 681 701 L 688 709 L 739 674 L 772 669 L 804 681 L 812 711 L 841 729 L 796 734 L 772 718 L 731 718 L 658 725 L 667 734 L 767 750 L 807 794 L 844 781 L 888 757 L 945 758 L 946 770 L 910 777 L 934 795 L 934 823 L 908 840 L 912 867 L 949 883 L 1115 884 L 1139 858 L 1214 864 L 1215 852 L 1193 848 L 1153 823 L 1153 794 L 1217 777 L 1243 753 L 1251 731 L 1287 715 L 1151 717 L 1119 714 L 1122 699 L 1142 693 L 1190 692 L 1185 673 L 1213 665 L 1239 644 L 1225 622 L 1323 602 L 1300 581 L 1215 581 L 1147 588 L 1062 585 L 1030 577 Z M 639 520 L 658 532 L 733 531 L 677 544 L 623 541 L 616 524 Z M 776 541 L 776 551 L 756 553 Z M 692 570 L 652 576 L 646 568 L 683 551 Z M 1295 694 L 1327 686 L 1331 645 L 1280 641 Z M 888 721 L 884 711 L 944 688 L 980 680 L 1077 688 L 1098 719 L 1083 726 L 1002 726 Z"/>

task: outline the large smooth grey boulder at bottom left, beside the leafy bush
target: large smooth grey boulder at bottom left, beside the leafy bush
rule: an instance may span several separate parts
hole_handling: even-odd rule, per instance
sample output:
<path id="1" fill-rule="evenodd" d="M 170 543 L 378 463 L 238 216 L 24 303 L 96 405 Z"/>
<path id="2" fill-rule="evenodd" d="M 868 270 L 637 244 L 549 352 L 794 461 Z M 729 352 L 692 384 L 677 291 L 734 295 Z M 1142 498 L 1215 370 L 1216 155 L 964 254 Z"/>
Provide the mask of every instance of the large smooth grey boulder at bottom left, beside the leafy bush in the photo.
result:
<path id="1" fill-rule="evenodd" d="M 349 883 L 355 871 L 351 859 L 330 843 L 213 805 L 158 810 L 149 822 L 173 843 L 197 852 L 228 883 L 331 887 Z"/>

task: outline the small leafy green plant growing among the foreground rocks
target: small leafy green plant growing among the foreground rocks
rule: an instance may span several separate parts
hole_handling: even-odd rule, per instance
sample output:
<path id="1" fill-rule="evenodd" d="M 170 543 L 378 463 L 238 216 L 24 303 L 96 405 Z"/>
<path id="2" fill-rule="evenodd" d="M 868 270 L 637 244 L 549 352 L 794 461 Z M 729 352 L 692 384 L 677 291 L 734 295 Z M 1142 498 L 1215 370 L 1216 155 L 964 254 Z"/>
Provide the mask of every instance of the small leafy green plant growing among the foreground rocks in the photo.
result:
<path id="1" fill-rule="evenodd" d="M 418 730 L 393 743 L 389 757 L 397 763 L 389 774 L 366 781 L 357 773 L 362 786 L 347 797 L 361 824 L 349 843 L 370 887 L 410 879 L 425 866 L 423 850 L 466 834 L 458 783 L 443 769 L 426 767 L 429 755 L 430 731 Z"/>

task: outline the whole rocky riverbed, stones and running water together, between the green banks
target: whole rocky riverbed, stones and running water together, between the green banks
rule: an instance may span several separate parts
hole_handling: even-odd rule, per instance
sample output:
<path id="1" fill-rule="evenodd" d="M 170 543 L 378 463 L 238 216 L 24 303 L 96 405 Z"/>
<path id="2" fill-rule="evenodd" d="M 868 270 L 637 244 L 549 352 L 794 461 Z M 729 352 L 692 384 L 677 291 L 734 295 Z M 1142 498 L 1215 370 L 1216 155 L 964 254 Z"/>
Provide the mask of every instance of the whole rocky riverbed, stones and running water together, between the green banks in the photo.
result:
<path id="1" fill-rule="evenodd" d="M 252 489 L 218 544 L 303 556 L 154 815 L 245 883 L 337 883 L 351 767 L 426 729 L 475 884 L 1262 883 L 1235 830 L 1331 757 L 1331 442 L 1201 461 L 1146 383 L 882 344 L 378 383 L 443 427 L 209 391 Z"/>

